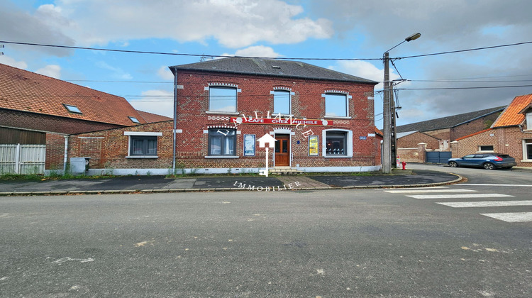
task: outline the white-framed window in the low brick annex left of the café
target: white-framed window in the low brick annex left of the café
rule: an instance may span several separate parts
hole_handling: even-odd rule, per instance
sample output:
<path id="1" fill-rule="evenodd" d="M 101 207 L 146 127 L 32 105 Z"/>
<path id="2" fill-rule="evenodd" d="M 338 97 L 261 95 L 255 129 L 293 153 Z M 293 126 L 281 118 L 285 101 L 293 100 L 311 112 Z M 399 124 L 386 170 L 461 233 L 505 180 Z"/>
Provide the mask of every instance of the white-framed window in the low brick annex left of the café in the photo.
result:
<path id="1" fill-rule="evenodd" d="M 123 134 L 129 137 L 126 158 L 158 158 L 157 137 L 162 136 L 162 133 L 124 131 Z"/>

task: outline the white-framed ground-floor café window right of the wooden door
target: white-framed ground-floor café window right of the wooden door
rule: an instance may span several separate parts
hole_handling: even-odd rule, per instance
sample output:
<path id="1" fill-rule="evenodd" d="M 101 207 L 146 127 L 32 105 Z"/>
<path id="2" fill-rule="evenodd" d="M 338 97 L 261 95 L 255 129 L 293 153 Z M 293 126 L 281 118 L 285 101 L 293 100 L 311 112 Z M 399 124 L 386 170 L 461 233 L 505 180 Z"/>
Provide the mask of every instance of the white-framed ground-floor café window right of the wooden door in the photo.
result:
<path id="1" fill-rule="evenodd" d="M 326 129 L 321 133 L 321 153 L 325 158 L 352 158 L 353 131 Z"/>

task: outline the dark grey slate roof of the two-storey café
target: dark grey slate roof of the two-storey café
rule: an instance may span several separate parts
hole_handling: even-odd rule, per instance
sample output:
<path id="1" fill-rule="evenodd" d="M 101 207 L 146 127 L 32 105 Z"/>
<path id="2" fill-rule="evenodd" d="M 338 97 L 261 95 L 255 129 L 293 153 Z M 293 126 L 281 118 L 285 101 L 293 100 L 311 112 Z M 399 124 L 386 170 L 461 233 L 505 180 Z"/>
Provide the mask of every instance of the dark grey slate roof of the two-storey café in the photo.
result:
<path id="1" fill-rule="evenodd" d="M 245 57 L 228 57 L 209 60 L 186 65 L 170 66 L 172 72 L 179 70 L 199 70 L 206 72 L 224 72 L 244 75 L 267 75 L 275 77 L 296 77 L 301 79 L 326 79 L 343 82 L 358 82 L 377 84 L 370 79 L 362 79 L 342 72 L 328 70 L 323 67 L 310 65 L 304 62 L 259 59 Z"/>

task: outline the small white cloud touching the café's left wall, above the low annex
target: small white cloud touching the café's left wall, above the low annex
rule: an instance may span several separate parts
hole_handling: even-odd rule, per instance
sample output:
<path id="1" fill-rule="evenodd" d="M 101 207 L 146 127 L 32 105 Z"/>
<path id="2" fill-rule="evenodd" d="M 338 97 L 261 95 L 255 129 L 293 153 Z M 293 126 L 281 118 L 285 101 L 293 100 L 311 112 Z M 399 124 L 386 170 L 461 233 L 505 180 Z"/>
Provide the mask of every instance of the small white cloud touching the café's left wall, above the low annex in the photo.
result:
<path id="1" fill-rule="evenodd" d="M 142 92 L 142 99 L 132 99 L 129 103 L 140 111 L 172 117 L 174 112 L 174 94 L 166 90 L 148 90 Z"/>

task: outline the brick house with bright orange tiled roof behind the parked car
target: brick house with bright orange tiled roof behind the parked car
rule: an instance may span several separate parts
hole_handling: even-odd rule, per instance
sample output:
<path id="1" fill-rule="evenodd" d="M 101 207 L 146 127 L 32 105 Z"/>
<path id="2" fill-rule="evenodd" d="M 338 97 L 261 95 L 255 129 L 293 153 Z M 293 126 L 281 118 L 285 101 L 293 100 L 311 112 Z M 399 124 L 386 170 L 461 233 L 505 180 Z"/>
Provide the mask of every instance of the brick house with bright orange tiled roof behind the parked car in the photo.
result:
<path id="1" fill-rule="evenodd" d="M 453 158 L 471 153 L 509 154 L 521 167 L 532 167 L 532 94 L 516 96 L 490 128 L 458 138 Z"/>

